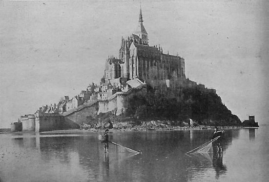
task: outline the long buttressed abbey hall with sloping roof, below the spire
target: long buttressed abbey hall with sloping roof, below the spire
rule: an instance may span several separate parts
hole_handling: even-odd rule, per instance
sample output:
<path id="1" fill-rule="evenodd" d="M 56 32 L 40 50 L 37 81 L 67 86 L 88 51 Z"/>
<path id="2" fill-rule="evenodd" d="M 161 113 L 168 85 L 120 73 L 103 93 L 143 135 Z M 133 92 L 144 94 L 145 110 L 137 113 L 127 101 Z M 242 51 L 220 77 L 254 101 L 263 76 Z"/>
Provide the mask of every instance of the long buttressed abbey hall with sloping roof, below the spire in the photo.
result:
<path id="1" fill-rule="evenodd" d="M 129 79 L 166 80 L 185 78 L 185 60 L 180 56 L 163 54 L 160 49 L 131 44 Z"/>

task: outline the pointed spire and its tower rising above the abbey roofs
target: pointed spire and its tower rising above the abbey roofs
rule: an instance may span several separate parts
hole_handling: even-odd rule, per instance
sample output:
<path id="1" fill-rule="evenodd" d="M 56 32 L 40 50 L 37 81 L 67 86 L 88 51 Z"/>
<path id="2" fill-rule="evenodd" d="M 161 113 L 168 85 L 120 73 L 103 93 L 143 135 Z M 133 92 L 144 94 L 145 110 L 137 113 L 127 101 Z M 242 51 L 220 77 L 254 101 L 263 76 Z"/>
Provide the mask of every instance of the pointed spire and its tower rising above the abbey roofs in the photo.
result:
<path id="1" fill-rule="evenodd" d="M 133 33 L 133 38 L 135 40 L 135 43 L 148 45 L 148 35 L 145 30 L 145 27 L 143 25 L 143 16 L 142 16 L 142 9 L 140 5 L 140 14 L 139 14 L 139 20 L 138 20 L 138 26 Z"/>

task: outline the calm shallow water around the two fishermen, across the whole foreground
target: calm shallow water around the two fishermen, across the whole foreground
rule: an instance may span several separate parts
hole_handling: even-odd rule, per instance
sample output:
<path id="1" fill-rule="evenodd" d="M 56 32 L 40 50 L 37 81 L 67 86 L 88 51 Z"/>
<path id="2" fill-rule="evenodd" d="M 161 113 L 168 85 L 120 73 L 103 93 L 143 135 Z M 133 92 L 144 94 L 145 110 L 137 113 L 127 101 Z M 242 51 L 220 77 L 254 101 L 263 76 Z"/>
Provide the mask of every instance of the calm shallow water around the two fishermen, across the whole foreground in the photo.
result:
<path id="1" fill-rule="evenodd" d="M 266 182 L 268 126 L 228 129 L 222 160 L 185 153 L 210 140 L 212 130 L 114 131 L 104 155 L 98 133 L 0 134 L 0 182 L 212 181 Z"/>

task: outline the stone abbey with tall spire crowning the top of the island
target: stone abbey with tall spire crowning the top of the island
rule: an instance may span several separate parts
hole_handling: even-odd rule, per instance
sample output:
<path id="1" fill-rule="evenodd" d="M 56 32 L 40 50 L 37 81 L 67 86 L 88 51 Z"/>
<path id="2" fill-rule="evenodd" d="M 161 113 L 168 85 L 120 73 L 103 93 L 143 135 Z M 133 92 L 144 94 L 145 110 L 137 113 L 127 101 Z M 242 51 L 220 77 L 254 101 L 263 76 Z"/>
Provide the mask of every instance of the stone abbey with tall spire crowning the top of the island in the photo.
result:
<path id="1" fill-rule="evenodd" d="M 127 38 L 122 38 L 119 59 L 108 58 L 105 63 L 105 81 L 138 78 L 155 87 L 166 84 L 179 88 L 185 77 L 185 60 L 180 56 L 164 54 L 160 46 L 149 46 L 148 34 L 143 25 L 140 9 L 137 29 Z"/>

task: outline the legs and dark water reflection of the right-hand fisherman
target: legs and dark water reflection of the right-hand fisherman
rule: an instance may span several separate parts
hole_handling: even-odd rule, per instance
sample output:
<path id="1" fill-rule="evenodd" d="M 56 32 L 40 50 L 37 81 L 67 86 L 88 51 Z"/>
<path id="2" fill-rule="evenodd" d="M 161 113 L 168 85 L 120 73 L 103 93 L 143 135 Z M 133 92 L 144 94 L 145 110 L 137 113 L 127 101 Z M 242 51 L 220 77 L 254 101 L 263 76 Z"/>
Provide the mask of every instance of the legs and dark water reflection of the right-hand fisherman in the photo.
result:
<path id="1" fill-rule="evenodd" d="M 212 147 L 213 147 L 212 164 L 216 171 L 216 179 L 218 179 L 221 174 L 227 171 L 227 168 L 222 163 L 223 158 L 222 143 L 221 142 L 219 142 L 218 144 L 212 143 Z"/>

